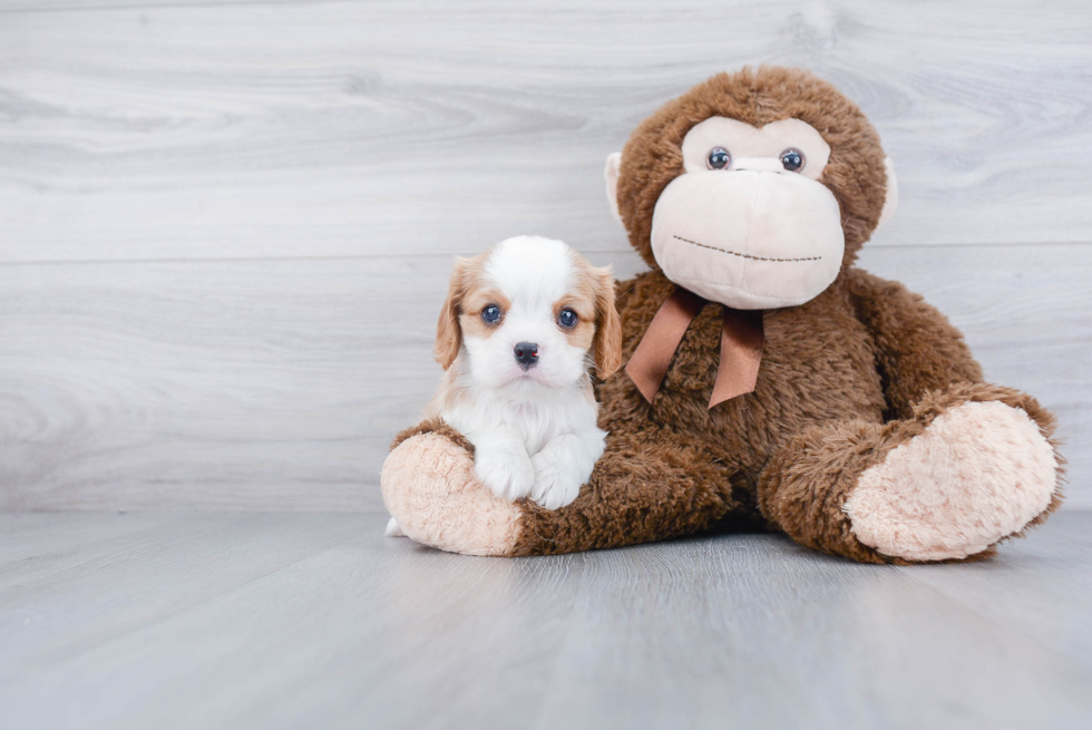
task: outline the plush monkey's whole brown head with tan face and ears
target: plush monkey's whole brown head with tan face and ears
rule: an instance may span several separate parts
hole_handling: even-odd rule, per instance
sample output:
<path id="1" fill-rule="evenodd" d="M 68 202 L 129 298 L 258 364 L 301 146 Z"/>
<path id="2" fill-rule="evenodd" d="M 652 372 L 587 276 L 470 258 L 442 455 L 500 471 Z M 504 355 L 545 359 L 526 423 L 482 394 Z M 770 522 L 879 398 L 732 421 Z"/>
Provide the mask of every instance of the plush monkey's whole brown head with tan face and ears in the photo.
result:
<path id="1" fill-rule="evenodd" d="M 895 169 L 852 101 L 799 69 L 719 74 L 607 158 L 630 242 L 680 286 L 737 309 L 802 304 L 895 211 Z"/>

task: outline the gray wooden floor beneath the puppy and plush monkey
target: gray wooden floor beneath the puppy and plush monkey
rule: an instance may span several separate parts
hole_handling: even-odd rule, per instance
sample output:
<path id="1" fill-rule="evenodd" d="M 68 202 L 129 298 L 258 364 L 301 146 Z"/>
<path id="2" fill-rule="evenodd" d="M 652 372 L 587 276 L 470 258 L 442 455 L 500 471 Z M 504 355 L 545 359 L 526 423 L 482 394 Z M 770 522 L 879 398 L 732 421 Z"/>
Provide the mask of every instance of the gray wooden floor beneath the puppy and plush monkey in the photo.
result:
<path id="1" fill-rule="evenodd" d="M 0 515 L 0 727 L 1089 728 L 1092 513 L 977 564 L 547 558 L 380 514 Z"/>

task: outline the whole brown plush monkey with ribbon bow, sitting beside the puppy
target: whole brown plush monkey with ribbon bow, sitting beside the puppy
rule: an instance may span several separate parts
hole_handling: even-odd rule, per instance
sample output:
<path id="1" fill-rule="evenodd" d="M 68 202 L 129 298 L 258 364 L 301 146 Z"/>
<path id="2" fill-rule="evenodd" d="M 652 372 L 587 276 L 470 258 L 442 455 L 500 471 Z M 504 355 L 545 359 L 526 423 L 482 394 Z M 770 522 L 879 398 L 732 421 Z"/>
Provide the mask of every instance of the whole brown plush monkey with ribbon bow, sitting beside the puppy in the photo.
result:
<path id="1" fill-rule="evenodd" d="M 606 454 L 558 510 L 472 477 L 459 434 L 401 434 L 383 497 L 418 542 L 478 555 L 616 547 L 757 518 L 874 563 L 992 554 L 1060 503 L 1053 417 L 983 382 L 948 321 L 852 266 L 895 207 L 860 109 L 793 69 L 721 74 L 607 162 L 652 271 L 618 284 L 626 374 Z"/>

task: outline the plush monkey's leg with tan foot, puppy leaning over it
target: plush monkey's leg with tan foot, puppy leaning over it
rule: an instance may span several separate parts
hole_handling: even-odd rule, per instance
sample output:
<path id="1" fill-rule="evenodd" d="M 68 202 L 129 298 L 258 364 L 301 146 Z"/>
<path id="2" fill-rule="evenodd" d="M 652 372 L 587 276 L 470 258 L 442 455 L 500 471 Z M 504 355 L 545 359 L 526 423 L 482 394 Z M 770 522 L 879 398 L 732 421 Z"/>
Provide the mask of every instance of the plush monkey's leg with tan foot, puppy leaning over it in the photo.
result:
<path id="1" fill-rule="evenodd" d="M 468 555 L 542 555 L 699 532 L 733 506 L 722 488 L 728 468 L 666 431 L 612 434 L 579 496 L 552 510 L 482 487 L 466 439 L 430 421 L 396 440 L 381 483 L 387 508 L 419 543 Z"/>

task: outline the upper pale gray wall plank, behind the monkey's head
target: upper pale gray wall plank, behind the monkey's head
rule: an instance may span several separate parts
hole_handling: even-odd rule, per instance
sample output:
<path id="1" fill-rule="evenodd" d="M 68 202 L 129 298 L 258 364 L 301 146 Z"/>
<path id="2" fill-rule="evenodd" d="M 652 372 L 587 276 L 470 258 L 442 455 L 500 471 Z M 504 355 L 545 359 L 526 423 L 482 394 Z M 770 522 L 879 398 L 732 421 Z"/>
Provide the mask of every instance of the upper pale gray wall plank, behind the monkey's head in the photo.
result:
<path id="1" fill-rule="evenodd" d="M 621 252 L 606 155 L 761 62 L 875 121 L 878 245 L 1092 241 L 1083 0 L 79 4 L 2 3 L 3 261 Z"/>

